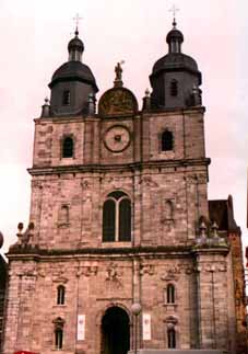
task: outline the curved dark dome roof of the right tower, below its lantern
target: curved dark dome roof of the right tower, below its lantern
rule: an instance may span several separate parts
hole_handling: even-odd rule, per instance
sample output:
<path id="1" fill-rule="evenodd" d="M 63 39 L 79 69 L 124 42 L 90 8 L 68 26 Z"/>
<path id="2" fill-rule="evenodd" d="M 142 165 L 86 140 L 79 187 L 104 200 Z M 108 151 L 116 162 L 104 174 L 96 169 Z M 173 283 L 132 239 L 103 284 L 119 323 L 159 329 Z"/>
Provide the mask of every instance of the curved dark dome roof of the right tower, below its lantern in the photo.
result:
<path id="1" fill-rule="evenodd" d="M 168 53 L 158 59 L 153 66 L 153 75 L 162 70 L 178 70 L 184 69 L 191 72 L 199 72 L 197 61 L 190 56 L 182 53 Z"/>

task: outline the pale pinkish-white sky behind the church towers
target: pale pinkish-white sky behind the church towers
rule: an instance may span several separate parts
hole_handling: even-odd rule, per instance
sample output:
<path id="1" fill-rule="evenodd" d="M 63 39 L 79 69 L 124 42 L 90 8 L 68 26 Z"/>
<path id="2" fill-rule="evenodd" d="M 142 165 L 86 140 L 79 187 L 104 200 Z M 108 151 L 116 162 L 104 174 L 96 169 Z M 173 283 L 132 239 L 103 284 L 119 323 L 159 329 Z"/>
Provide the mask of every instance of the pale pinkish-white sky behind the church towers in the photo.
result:
<path id="1" fill-rule="evenodd" d="M 68 59 L 76 13 L 85 45 L 83 61 L 96 78 L 97 99 L 113 87 L 114 68 L 125 60 L 125 85 L 140 109 L 154 62 L 167 53 L 173 4 L 182 52 L 202 72 L 209 198 L 234 198 L 237 224 L 247 241 L 247 0 L 0 0 L 0 230 L 2 252 L 27 225 L 34 122 L 50 91 L 54 71 Z M 237 5 L 238 4 L 238 5 Z"/>

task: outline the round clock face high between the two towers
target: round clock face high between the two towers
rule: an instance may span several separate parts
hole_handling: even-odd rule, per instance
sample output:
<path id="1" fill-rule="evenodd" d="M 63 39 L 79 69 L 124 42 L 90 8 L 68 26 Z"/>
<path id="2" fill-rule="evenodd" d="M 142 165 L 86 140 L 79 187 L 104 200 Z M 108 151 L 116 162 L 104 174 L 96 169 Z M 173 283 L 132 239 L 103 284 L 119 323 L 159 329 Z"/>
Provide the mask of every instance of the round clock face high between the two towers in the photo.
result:
<path id="1" fill-rule="evenodd" d="M 115 125 L 105 133 L 104 144 L 113 152 L 121 152 L 130 144 L 130 133 L 122 125 Z"/>

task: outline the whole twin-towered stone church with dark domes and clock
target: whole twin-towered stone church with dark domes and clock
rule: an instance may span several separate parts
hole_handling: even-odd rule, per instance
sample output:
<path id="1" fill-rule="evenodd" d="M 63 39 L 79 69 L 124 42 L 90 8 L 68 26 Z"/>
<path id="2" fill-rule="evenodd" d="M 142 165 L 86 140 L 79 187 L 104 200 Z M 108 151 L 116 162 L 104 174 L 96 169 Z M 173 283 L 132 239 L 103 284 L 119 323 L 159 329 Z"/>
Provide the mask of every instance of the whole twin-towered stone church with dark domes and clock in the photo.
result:
<path id="1" fill-rule="evenodd" d="M 182 42 L 174 22 L 141 111 L 118 64 L 95 113 L 78 31 L 70 41 L 35 119 L 31 224 L 8 254 L 5 354 L 239 353 L 239 253 L 209 221 L 201 72 Z"/>

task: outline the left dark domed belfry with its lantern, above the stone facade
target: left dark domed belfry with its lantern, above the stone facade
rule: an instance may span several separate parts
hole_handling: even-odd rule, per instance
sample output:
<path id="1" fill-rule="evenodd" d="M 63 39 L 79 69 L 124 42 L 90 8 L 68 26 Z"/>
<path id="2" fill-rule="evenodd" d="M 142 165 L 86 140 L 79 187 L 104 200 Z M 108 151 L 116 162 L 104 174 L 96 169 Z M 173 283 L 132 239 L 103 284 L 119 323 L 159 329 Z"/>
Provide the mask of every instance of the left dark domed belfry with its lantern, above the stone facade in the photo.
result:
<path id="1" fill-rule="evenodd" d="M 78 28 L 68 44 L 68 61 L 55 71 L 49 83 L 51 116 L 87 114 L 88 96 L 95 96 L 98 91 L 92 70 L 82 62 L 84 44 Z"/>

